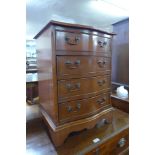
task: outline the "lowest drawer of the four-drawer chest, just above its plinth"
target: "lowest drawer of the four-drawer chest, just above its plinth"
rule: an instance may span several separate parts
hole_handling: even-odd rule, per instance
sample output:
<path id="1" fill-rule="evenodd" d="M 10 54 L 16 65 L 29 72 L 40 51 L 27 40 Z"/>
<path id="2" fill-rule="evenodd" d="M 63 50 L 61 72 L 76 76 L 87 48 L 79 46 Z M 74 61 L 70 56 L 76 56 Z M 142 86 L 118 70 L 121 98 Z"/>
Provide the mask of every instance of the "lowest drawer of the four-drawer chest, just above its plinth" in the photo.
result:
<path id="1" fill-rule="evenodd" d="M 59 104 L 60 122 L 75 120 L 97 113 L 110 105 L 110 92 L 88 99 L 68 101 Z"/>

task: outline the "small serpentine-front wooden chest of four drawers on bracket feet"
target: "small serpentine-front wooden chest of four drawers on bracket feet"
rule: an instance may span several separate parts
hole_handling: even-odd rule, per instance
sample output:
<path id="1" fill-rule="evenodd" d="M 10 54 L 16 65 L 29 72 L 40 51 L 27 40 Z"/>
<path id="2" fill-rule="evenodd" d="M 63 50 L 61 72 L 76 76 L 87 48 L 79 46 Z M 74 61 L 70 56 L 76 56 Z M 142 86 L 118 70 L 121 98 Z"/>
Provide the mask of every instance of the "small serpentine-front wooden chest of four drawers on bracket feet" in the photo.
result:
<path id="1" fill-rule="evenodd" d="M 111 122 L 111 33 L 50 21 L 36 36 L 40 107 L 53 143 Z"/>

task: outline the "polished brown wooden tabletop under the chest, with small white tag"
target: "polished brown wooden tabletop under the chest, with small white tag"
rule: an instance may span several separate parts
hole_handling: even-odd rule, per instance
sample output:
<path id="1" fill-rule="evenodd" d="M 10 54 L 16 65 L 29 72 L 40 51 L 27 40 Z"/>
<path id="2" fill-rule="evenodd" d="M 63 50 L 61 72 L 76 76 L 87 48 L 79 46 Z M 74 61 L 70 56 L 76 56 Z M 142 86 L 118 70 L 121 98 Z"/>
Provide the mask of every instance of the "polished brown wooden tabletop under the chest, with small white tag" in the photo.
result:
<path id="1" fill-rule="evenodd" d="M 62 146 L 55 148 L 55 154 L 69 155 L 87 153 L 109 138 L 129 128 L 129 116 L 127 113 L 115 109 L 113 116 L 112 124 L 107 124 L 100 128 L 95 127 L 90 130 L 83 130 L 70 135 Z M 94 144 L 93 140 L 95 138 L 99 138 L 100 141 Z"/>

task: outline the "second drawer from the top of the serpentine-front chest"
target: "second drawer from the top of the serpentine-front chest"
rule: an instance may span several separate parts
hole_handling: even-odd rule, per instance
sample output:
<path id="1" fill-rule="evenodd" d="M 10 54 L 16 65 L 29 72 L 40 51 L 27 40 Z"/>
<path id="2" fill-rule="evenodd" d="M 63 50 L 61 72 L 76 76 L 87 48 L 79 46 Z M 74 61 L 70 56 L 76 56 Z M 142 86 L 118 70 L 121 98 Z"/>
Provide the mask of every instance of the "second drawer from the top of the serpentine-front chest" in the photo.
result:
<path id="1" fill-rule="evenodd" d="M 111 59 L 94 56 L 57 56 L 59 79 L 110 74 Z"/>

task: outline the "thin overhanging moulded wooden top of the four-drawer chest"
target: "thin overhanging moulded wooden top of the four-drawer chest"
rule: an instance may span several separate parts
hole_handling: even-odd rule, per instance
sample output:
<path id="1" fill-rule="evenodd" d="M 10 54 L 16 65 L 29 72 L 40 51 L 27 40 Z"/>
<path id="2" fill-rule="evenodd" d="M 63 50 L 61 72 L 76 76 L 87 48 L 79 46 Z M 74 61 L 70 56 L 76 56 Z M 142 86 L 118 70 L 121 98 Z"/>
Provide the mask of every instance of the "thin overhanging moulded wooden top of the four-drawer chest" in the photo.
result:
<path id="1" fill-rule="evenodd" d="M 87 25 L 80 25 L 80 24 L 71 24 L 71 23 L 64 23 L 64 22 L 58 22 L 58 21 L 53 21 L 51 20 L 48 24 L 46 24 L 41 30 L 40 32 L 34 37 L 34 39 L 37 39 L 40 34 L 47 29 L 49 26 L 51 25 L 55 25 L 55 26 L 63 26 L 63 27 L 70 27 L 70 28 L 80 28 L 80 29 L 87 29 L 87 30 L 93 30 L 93 31 L 97 31 L 97 32 L 101 32 L 101 33 L 105 33 L 108 35 L 115 35 L 114 33 L 109 33 L 106 31 L 103 31 L 101 29 L 96 29 L 94 27 L 91 26 L 87 26 Z"/>

